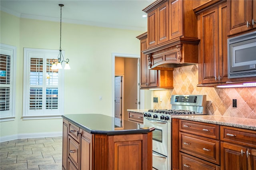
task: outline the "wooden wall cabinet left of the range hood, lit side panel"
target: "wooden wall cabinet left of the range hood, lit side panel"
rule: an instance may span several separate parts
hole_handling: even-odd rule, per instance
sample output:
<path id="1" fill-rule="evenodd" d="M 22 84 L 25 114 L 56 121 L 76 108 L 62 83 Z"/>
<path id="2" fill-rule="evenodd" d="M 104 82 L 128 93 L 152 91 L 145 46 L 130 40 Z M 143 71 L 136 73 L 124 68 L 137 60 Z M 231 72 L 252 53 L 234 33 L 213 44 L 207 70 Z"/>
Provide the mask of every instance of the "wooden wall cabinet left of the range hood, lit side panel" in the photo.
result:
<path id="1" fill-rule="evenodd" d="M 173 88 L 173 68 L 168 70 L 153 70 L 149 69 L 149 59 L 142 52 L 147 49 L 147 32 L 137 36 L 140 40 L 140 88 Z"/>

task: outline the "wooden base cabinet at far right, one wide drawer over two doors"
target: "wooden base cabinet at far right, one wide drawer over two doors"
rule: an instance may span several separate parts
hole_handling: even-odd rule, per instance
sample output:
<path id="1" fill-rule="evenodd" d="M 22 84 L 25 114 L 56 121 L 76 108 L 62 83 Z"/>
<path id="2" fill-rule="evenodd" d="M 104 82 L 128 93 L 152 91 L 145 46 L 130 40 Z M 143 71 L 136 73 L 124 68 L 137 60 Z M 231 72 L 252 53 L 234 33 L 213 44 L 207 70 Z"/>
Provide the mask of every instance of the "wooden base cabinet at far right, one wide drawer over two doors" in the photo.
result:
<path id="1" fill-rule="evenodd" d="M 220 126 L 221 169 L 256 169 L 256 132 Z"/>

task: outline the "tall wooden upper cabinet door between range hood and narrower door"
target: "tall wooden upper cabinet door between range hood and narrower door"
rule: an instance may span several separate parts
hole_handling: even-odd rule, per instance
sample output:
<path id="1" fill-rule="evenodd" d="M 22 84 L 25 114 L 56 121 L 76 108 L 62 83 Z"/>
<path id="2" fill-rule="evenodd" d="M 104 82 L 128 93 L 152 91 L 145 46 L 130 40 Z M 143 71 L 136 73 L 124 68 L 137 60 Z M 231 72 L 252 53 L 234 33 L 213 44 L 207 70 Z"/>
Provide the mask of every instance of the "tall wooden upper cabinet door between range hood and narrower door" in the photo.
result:
<path id="1" fill-rule="evenodd" d="M 200 15 L 200 57 L 199 69 L 201 83 L 217 83 L 218 63 L 218 7 Z"/>

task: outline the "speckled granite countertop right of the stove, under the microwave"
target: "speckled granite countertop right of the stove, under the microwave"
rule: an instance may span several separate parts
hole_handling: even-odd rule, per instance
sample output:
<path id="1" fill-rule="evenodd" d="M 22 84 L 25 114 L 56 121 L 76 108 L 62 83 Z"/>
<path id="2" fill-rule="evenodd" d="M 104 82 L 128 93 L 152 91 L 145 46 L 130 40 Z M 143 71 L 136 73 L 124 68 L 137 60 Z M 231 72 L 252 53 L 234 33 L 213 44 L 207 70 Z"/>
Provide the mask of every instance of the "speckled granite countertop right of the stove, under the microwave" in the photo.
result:
<path id="1" fill-rule="evenodd" d="M 193 115 L 193 116 L 192 115 L 191 116 L 190 115 L 189 116 L 173 115 L 172 118 L 256 130 L 256 119 L 226 117 L 226 116 L 217 116 L 217 115 Z"/>

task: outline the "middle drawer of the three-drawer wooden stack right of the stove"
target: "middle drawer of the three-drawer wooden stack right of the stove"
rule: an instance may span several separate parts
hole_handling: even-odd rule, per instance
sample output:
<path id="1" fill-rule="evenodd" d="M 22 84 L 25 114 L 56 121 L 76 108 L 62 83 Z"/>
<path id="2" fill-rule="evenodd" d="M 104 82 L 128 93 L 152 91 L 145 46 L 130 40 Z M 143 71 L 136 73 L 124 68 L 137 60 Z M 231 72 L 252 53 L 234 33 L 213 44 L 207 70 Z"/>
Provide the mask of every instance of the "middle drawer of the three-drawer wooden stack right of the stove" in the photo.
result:
<path id="1" fill-rule="evenodd" d="M 180 132 L 180 151 L 220 164 L 220 142 Z"/>

